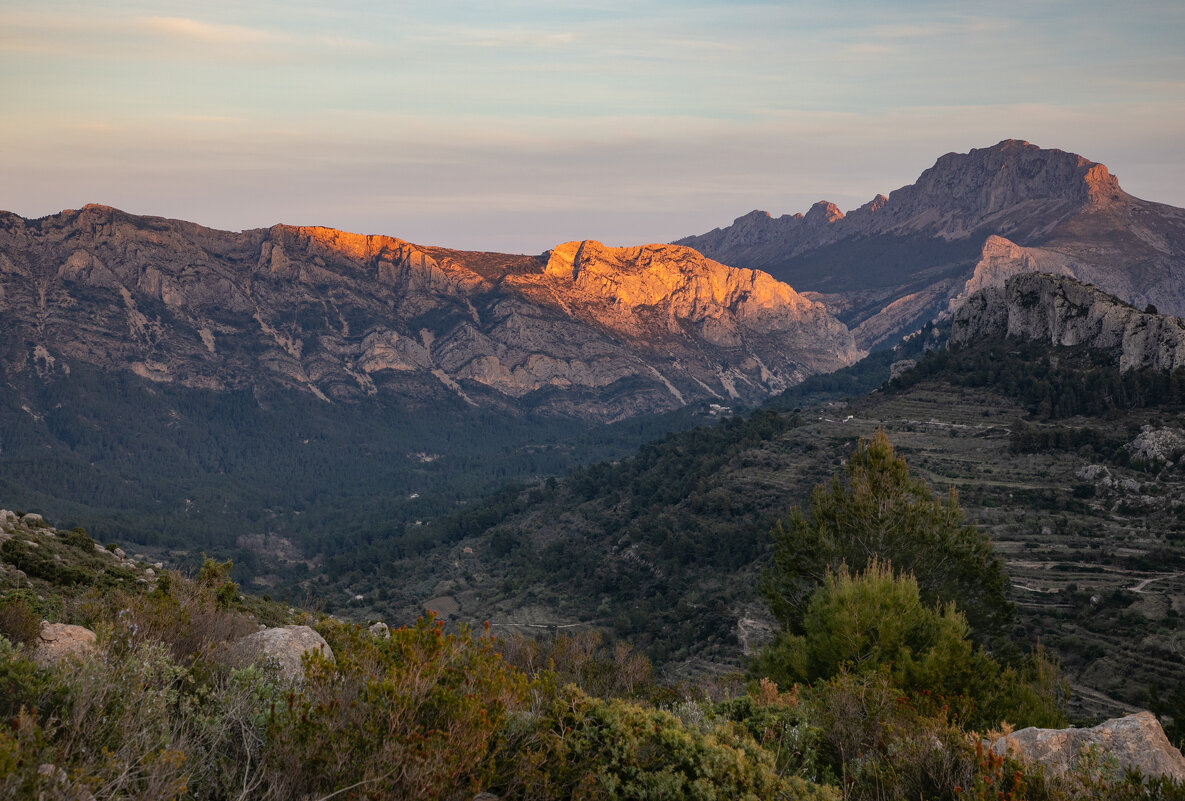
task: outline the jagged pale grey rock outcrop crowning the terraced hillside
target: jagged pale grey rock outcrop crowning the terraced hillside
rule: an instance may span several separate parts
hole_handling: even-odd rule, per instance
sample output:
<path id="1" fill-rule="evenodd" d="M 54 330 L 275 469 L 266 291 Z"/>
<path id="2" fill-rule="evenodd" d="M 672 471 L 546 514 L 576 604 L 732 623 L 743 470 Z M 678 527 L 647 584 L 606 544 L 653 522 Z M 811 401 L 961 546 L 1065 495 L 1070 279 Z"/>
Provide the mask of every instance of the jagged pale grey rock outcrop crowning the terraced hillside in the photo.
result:
<path id="1" fill-rule="evenodd" d="M 1029 273 L 982 289 L 954 314 L 950 341 L 1020 337 L 1114 351 L 1121 370 L 1185 367 L 1185 321 L 1140 312 L 1074 278 Z"/>

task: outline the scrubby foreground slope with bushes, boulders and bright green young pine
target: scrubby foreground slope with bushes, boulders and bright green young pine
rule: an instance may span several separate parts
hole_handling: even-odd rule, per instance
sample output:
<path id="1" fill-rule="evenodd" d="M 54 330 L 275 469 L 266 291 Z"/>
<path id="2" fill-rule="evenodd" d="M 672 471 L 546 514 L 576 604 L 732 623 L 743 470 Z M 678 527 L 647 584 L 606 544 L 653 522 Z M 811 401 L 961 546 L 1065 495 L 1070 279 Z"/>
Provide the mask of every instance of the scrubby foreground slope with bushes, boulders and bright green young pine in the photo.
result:
<path id="1" fill-rule="evenodd" d="M 840 506 L 888 499 L 905 478 L 883 435 L 861 441 L 857 463 Z M 899 499 L 891 519 L 931 502 Z M 1064 774 L 986 750 L 981 738 L 1012 723 L 1064 722 L 1056 664 L 975 646 L 956 601 L 929 603 L 925 581 L 878 557 L 830 568 L 750 680 L 674 684 L 596 632 L 531 640 L 431 617 L 366 627 L 244 595 L 229 568 L 206 559 L 186 576 L 0 510 L 0 795 L 1185 796 L 1167 744 L 1155 746 L 1167 768 L 1146 744 L 1139 761 L 1116 749 Z"/>

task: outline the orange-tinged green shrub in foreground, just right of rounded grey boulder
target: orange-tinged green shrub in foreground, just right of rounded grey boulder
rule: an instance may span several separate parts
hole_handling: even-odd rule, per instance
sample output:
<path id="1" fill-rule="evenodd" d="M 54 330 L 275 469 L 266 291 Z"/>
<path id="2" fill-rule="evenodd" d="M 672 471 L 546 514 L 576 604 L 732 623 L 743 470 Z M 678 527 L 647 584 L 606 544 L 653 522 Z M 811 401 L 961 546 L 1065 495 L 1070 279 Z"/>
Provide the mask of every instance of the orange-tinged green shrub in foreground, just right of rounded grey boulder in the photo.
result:
<path id="1" fill-rule="evenodd" d="M 431 619 L 389 639 L 342 623 L 321 633 L 337 664 L 312 658 L 277 710 L 261 797 L 442 799 L 492 781 L 499 731 L 527 692 L 492 639 Z"/>

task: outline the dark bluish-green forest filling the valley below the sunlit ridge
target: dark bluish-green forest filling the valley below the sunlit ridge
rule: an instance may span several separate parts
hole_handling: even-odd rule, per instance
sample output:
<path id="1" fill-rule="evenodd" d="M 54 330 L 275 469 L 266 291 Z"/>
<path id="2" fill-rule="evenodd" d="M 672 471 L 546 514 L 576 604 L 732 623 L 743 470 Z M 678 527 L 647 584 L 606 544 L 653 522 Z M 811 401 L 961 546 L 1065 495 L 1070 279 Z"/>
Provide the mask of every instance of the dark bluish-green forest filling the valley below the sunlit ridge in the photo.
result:
<path id="1" fill-rule="evenodd" d="M 0 387 L 0 495 L 104 542 L 232 556 L 245 576 L 256 557 L 243 534 L 347 552 L 507 482 L 562 475 L 706 419 L 706 406 L 594 425 L 459 398 L 329 404 L 78 367 Z"/>

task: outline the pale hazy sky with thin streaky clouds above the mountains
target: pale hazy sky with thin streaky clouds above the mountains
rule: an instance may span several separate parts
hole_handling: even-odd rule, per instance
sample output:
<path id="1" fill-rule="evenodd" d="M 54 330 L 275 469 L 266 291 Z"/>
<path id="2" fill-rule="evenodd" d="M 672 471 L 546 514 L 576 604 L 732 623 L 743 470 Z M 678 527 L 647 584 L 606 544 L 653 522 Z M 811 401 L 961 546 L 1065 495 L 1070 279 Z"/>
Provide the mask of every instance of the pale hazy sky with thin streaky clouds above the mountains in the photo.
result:
<path id="1" fill-rule="evenodd" d="M 540 252 L 1010 137 L 1185 206 L 1183 43 L 1181 0 L 0 0 L 0 209 Z"/>

